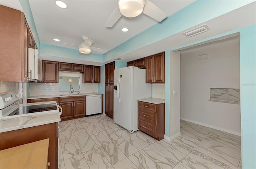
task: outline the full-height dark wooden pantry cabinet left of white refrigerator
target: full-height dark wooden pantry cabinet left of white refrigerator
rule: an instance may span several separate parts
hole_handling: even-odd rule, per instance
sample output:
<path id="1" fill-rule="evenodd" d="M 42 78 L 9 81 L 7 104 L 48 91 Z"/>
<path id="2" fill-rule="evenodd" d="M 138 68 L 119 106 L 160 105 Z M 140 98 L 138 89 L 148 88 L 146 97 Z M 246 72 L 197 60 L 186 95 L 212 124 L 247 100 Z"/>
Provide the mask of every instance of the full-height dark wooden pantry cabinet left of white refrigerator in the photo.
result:
<path id="1" fill-rule="evenodd" d="M 105 114 L 114 117 L 114 69 L 115 62 L 105 65 Z"/>

